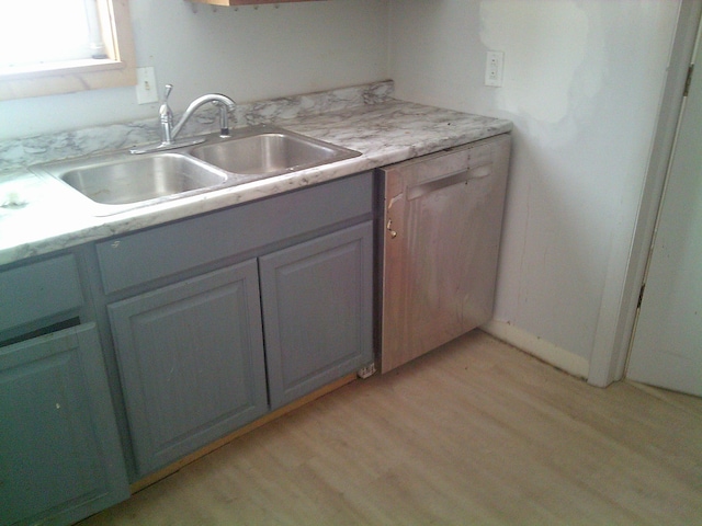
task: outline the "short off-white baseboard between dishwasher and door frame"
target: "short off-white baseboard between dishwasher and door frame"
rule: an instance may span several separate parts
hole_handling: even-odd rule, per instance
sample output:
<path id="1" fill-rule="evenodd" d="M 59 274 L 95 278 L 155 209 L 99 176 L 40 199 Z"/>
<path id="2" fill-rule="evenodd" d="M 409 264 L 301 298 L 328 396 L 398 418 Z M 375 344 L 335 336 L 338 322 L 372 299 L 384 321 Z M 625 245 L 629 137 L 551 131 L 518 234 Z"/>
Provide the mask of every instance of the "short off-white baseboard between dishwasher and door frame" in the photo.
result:
<path id="1" fill-rule="evenodd" d="M 482 325 L 480 329 L 498 340 L 514 345 L 573 376 L 587 379 L 590 373 L 590 363 L 582 356 L 578 356 L 505 321 L 490 320 Z"/>

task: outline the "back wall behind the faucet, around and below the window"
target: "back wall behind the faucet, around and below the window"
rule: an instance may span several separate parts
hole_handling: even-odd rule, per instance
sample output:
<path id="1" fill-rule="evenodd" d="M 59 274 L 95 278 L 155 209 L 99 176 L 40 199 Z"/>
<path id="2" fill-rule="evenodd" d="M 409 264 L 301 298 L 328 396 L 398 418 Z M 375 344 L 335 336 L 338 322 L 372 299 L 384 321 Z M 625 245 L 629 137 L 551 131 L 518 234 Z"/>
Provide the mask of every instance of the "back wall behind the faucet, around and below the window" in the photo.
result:
<path id="1" fill-rule="evenodd" d="M 137 66 L 174 85 L 172 107 L 207 92 L 238 102 L 387 78 L 387 0 L 214 8 L 131 0 Z M 196 9 L 196 12 L 193 12 Z M 0 101 L 0 140 L 157 116 L 134 88 Z"/>

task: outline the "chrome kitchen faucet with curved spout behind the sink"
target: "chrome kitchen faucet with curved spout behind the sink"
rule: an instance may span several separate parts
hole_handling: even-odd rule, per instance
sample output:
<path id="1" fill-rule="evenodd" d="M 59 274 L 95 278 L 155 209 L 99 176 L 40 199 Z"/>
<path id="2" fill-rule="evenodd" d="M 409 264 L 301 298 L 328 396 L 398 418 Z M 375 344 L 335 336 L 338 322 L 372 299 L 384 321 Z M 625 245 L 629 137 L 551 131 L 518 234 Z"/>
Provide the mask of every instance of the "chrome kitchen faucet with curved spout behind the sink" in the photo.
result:
<path id="1" fill-rule="evenodd" d="M 168 150 L 171 148 L 180 148 L 183 146 L 197 145 L 204 142 L 204 137 L 188 138 L 182 140 L 176 140 L 176 137 L 183 129 L 185 123 L 193 116 L 195 111 L 203 104 L 212 102 L 219 107 L 219 137 L 229 137 L 229 112 L 236 110 L 236 103 L 226 95 L 219 93 L 208 93 L 206 95 L 199 96 L 190 103 L 185 113 L 180 118 L 178 124 L 173 126 L 173 112 L 171 112 L 168 105 L 168 96 L 173 89 L 172 84 L 166 84 L 163 91 L 163 103 L 158 110 L 159 122 L 161 124 L 161 142 L 159 145 L 151 145 L 144 148 L 133 148 L 129 150 L 132 153 L 146 153 L 149 151 Z"/>

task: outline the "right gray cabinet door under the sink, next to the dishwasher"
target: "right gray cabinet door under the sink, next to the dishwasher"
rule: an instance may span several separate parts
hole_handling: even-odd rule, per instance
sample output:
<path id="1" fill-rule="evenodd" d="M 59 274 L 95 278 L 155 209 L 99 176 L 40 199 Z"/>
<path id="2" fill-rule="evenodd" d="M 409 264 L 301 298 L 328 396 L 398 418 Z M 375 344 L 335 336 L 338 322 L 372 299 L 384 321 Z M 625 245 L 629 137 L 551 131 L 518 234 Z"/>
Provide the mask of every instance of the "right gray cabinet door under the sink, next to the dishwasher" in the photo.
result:
<path id="1" fill-rule="evenodd" d="M 373 227 L 260 259 L 272 409 L 373 361 Z"/>

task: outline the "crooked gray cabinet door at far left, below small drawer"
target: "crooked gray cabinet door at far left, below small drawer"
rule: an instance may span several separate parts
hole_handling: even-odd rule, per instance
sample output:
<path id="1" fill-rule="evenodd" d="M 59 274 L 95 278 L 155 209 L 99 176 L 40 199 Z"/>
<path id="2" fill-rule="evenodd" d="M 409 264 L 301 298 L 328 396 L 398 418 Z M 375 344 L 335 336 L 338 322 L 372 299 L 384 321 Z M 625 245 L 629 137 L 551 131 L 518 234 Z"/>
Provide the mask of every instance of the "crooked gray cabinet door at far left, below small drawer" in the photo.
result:
<path id="1" fill-rule="evenodd" d="M 95 325 L 0 348 L 0 524 L 71 524 L 128 496 Z"/>

